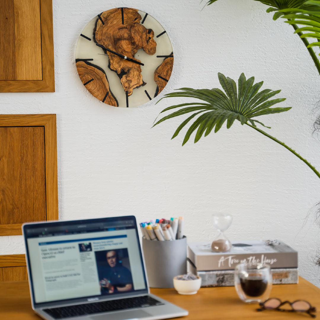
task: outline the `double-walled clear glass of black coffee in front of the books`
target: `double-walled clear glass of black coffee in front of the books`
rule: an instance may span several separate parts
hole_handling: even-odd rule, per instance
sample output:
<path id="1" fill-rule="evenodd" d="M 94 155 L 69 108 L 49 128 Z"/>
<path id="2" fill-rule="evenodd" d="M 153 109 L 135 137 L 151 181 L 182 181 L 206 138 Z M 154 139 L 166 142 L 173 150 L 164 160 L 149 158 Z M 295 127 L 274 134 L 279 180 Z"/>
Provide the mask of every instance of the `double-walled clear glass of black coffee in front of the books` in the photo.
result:
<path id="1" fill-rule="evenodd" d="M 235 287 L 239 298 L 247 303 L 267 300 L 272 289 L 272 274 L 266 264 L 238 264 L 235 268 Z"/>

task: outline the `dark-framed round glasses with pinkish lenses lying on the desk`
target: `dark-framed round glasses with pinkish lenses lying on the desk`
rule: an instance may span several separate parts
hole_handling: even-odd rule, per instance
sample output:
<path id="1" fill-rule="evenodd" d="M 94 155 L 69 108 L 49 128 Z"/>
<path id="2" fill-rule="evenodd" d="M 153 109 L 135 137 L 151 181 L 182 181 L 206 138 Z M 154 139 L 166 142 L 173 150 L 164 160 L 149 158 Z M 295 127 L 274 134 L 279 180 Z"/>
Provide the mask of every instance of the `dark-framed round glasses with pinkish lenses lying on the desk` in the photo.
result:
<path id="1" fill-rule="evenodd" d="M 280 307 L 288 303 L 292 309 L 281 309 Z M 259 303 L 260 308 L 257 311 L 263 310 L 278 310 L 278 311 L 288 311 L 288 312 L 305 312 L 308 313 L 311 317 L 315 318 L 316 315 L 311 314 L 311 312 L 316 312 L 315 307 L 311 307 L 310 303 L 305 300 L 295 300 L 293 302 L 284 301 L 282 302 L 278 298 L 270 298 L 265 302 Z"/>

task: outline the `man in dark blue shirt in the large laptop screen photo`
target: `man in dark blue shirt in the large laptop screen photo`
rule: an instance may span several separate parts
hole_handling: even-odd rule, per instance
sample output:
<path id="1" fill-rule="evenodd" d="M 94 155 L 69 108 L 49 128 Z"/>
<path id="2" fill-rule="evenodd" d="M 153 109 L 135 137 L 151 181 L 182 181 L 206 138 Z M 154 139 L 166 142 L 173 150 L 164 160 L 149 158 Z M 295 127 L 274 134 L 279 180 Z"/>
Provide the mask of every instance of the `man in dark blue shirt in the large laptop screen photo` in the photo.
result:
<path id="1" fill-rule="evenodd" d="M 121 250 L 127 253 L 126 249 Z M 120 262 L 118 250 L 100 252 L 100 256 L 101 253 L 105 254 L 107 262 L 104 265 L 98 264 L 101 294 L 131 291 L 132 275 L 130 270 Z"/>

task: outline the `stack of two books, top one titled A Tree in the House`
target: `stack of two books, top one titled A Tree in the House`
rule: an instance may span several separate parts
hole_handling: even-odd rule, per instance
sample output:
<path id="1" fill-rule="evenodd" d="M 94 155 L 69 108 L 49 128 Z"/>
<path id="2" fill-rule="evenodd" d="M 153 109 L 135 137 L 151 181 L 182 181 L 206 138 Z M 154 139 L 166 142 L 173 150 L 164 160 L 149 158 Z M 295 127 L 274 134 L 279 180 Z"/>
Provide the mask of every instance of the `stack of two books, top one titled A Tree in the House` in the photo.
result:
<path id="1" fill-rule="evenodd" d="M 229 252 L 212 252 L 211 242 L 188 243 L 188 272 L 202 278 L 202 287 L 233 286 L 239 263 L 270 265 L 273 284 L 298 283 L 298 252 L 281 241 L 237 241 Z"/>

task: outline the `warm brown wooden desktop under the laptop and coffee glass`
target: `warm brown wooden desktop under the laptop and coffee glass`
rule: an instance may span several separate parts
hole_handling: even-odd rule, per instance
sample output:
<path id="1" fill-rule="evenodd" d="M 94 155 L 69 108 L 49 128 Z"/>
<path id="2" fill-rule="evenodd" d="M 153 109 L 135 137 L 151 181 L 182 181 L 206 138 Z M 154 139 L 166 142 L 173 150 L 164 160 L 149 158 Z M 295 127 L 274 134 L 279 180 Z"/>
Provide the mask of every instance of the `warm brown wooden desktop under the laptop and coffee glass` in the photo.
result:
<path id="1" fill-rule="evenodd" d="M 239 300 L 234 287 L 201 288 L 196 294 L 190 296 L 180 295 L 174 289 L 151 289 L 151 292 L 187 309 L 189 315 L 180 318 L 181 320 L 312 319 L 307 314 L 280 311 L 258 312 L 257 304 L 245 304 Z M 320 310 L 320 289 L 301 277 L 299 284 L 274 285 L 271 296 L 290 301 L 304 299 Z M 0 319 L 41 319 L 31 308 L 27 281 L 0 283 Z"/>

